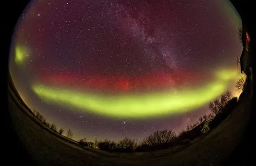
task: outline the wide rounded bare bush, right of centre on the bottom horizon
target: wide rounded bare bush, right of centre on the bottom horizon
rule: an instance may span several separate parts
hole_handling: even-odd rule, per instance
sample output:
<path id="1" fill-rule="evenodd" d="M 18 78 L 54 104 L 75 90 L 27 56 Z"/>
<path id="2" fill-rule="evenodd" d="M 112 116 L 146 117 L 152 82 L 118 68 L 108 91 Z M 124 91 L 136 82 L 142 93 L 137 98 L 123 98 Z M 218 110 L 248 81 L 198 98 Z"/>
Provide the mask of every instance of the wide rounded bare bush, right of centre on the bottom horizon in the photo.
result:
<path id="1" fill-rule="evenodd" d="M 150 146 L 159 146 L 163 144 L 168 144 L 176 139 L 176 134 L 172 130 L 157 130 L 152 133 L 144 140 L 142 140 L 143 144 L 148 144 Z"/>

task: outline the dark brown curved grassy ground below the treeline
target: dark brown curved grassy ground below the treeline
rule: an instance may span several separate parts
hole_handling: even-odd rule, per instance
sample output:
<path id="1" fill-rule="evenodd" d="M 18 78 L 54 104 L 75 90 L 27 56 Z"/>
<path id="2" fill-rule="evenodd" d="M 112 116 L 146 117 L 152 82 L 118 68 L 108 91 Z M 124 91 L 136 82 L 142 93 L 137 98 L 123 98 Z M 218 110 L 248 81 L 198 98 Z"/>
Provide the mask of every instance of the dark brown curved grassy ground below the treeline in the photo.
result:
<path id="1" fill-rule="evenodd" d="M 221 165 L 241 141 L 252 103 L 249 87 L 232 115 L 208 135 L 177 153 L 170 153 L 172 150 L 167 149 L 120 155 L 97 149 L 85 150 L 59 139 L 32 121 L 10 95 L 8 104 L 13 126 L 33 164 L 38 165 Z"/>

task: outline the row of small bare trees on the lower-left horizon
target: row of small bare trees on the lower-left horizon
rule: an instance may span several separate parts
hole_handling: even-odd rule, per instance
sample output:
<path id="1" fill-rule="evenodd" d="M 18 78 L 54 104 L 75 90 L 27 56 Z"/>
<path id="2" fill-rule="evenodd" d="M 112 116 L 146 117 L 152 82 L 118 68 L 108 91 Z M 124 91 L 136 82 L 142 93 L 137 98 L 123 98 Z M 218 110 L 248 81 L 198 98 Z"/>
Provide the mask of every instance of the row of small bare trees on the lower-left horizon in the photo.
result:
<path id="1" fill-rule="evenodd" d="M 63 133 L 64 133 L 63 128 L 58 129 L 57 126 L 55 125 L 55 123 L 50 124 L 49 122 L 46 121 L 46 119 L 43 117 L 43 115 L 41 115 L 36 110 L 34 110 L 33 115 L 35 116 L 36 119 L 38 119 L 42 123 L 42 125 L 45 125 L 46 127 L 50 128 L 54 132 L 56 132 L 60 135 L 63 135 Z M 66 136 L 69 137 L 70 139 L 72 139 L 73 133 L 71 132 L 70 129 L 67 131 Z"/>

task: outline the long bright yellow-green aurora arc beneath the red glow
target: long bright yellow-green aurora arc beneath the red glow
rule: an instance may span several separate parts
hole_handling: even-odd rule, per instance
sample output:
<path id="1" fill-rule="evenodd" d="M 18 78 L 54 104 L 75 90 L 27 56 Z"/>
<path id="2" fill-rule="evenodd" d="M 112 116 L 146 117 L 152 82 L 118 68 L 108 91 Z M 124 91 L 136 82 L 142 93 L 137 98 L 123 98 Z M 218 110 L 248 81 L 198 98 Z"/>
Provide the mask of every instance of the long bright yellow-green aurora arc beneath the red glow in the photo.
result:
<path id="1" fill-rule="evenodd" d="M 239 76 L 237 70 L 220 70 L 215 75 L 214 82 L 200 88 L 142 95 L 103 96 L 40 84 L 33 85 L 32 90 L 47 103 L 72 106 L 84 112 L 118 118 L 155 118 L 199 108 L 223 94 L 228 82 Z"/>

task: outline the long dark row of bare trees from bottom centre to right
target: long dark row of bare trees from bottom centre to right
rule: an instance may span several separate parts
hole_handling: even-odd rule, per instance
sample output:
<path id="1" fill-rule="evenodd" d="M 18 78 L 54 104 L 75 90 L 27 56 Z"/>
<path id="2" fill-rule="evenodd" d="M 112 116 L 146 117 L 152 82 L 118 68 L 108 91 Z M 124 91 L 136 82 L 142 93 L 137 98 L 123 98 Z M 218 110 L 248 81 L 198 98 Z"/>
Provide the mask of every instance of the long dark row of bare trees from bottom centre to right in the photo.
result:
<path id="1" fill-rule="evenodd" d="M 158 149 L 165 149 L 177 145 L 189 144 L 192 140 L 196 139 L 202 134 L 204 123 L 208 123 L 209 129 L 215 128 L 219 125 L 234 109 L 238 99 L 232 97 L 230 91 L 226 91 L 220 100 L 210 102 L 210 114 L 204 115 L 193 125 L 188 125 L 185 130 L 180 131 L 178 134 L 172 130 L 157 130 L 151 135 L 145 137 L 140 143 L 133 139 L 125 139 L 120 141 L 97 141 L 87 142 L 86 138 L 79 140 L 81 146 L 89 146 L 99 148 L 101 150 L 113 152 L 143 152 Z"/>

